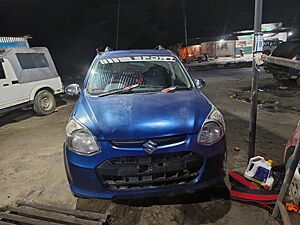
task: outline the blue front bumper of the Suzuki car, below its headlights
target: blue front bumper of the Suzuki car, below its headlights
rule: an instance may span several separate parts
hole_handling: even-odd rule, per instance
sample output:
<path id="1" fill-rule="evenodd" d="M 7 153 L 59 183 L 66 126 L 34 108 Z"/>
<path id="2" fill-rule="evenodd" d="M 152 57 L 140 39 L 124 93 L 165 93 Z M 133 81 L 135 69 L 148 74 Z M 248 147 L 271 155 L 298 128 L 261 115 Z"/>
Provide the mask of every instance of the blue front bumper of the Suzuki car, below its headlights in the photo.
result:
<path id="1" fill-rule="evenodd" d="M 225 137 L 211 146 L 203 146 L 197 143 L 197 134 L 190 134 L 187 135 L 185 141 L 183 142 L 163 148 L 158 147 L 158 149 L 151 156 L 142 148 L 118 148 L 113 146 L 109 141 L 101 141 L 100 145 L 101 152 L 91 156 L 77 154 L 64 146 L 66 173 L 71 191 L 75 196 L 104 199 L 172 196 L 181 193 L 191 193 L 199 189 L 205 189 L 209 186 L 213 186 L 217 183 L 220 183 L 225 176 Z M 109 160 L 116 157 L 137 157 L 145 159 L 153 156 L 157 159 L 160 158 L 160 155 L 178 154 L 181 152 L 197 155 L 198 158 L 201 158 L 201 162 L 199 161 L 196 175 L 193 173 L 195 176 L 192 177 L 191 180 L 184 180 L 185 182 L 181 182 L 179 184 L 173 183 L 172 185 L 165 185 L 166 183 L 164 180 L 161 180 L 161 182 L 156 184 L 164 185 L 157 185 L 155 187 L 152 186 L 150 188 L 141 186 L 142 188 L 112 189 L 111 186 L 107 185 L 104 176 L 101 175 L 103 171 L 109 174 L 115 172 L 118 175 L 122 175 L 126 173 L 132 174 L 134 170 L 128 170 L 128 168 L 123 170 L 120 167 L 118 167 L 119 169 L 117 171 L 114 167 L 105 167 L 105 170 L 99 170 L 101 165 L 104 165 L 106 162 L 109 162 L 110 164 Z M 178 161 L 178 163 L 179 164 L 177 167 L 174 163 L 172 165 L 164 163 L 164 165 L 161 165 L 161 168 L 163 168 L 163 170 L 167 170 L 167 168 L 171 168 L 170 170 L 172 170 L 172 168 L 176 170 L 176 168 L 179 167 L 185 168 L 188 167 L 188 163 L 192 163 L 194 165 L 195 160 L 193 162 L 181 160 Z M 159 164 L 161 163 L 159 162 Z M 158 164 L 155 164 L 155 166 L 153 165 L 154 172 L 157 169 L 157 165 Z M 182 169 L 182 171 L 186 170 Z M 159 177 L 159 179 L 162 178 Z M 146 182 L 148 181 L 146 180 Z"/>

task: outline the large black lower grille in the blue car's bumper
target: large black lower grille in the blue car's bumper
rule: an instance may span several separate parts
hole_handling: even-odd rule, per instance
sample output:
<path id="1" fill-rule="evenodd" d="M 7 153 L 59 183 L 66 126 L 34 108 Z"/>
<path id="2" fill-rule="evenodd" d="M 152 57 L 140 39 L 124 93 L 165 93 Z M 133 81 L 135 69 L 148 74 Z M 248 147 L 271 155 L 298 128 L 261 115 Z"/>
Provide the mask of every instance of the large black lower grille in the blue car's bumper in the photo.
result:
<path id="1" fill-rule="evenodd" d="M 194 152 L 111 158 L 97 167 L 110 190 L 147 189 L 181 185 L 198 176 L 202 157 Z"/>

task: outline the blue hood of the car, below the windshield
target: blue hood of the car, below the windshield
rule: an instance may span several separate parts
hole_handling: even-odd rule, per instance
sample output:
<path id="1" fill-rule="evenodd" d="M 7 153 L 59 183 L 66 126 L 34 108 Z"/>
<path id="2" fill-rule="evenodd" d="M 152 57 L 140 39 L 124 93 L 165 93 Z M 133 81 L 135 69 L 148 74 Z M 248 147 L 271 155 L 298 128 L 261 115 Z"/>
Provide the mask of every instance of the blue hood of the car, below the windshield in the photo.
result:
<path id="1" fill-rule="evenodd" d="M 142 139 L 199 132 L 212 105 L 198 90 L 80 96 L 73 116 L 97 139 Z"/>

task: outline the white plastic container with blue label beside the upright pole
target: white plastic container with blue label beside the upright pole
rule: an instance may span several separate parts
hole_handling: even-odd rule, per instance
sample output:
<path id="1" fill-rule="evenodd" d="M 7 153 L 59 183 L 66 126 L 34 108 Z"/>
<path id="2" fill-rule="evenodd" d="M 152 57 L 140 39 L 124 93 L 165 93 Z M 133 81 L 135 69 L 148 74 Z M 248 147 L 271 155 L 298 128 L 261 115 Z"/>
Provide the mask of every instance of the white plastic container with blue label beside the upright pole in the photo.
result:
<path id="1" fill-rule="evenodd" d="M 272 160 L 266 161 L 261 156 L 255 156 L 250 159 L 244 176 L 265 189 L 271 189 L 274 182 L 274 178 L 270 176 L 272 163 Z"/>

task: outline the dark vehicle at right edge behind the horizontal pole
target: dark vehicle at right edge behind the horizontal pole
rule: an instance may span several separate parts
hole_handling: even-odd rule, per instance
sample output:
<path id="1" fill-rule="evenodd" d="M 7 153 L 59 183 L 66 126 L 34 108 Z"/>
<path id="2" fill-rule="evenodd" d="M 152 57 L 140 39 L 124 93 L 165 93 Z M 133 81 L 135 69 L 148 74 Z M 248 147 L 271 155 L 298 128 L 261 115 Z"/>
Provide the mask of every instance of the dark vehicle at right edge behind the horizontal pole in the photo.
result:
<path id="1" fill-rule="evenodd" d="M 271 56 L 300 60 L 300 40 L 280 44 L 275 48 Z M 296 81 L 297 85 L 300 87 L 300 70 L 273 63 L 266 63 L 265 70 L 268 73 L 272 73 L 273 77 L 278 81 L 293 80 Z"/>

